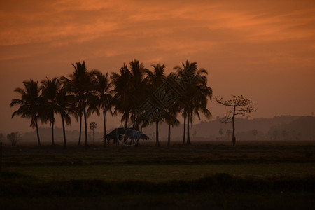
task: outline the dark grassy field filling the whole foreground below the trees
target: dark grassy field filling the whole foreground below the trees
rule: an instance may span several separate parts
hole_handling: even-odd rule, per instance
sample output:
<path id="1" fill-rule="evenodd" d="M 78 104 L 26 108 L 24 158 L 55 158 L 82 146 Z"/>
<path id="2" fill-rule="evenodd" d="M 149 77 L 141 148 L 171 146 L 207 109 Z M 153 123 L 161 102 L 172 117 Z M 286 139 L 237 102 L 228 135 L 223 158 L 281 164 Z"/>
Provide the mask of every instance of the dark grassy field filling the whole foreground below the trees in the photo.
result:
<path id="1" fill-rule="evenodd" d="M 315 142 L 3 146 L 0 183 L 5 209 L 313 209 Z"/>

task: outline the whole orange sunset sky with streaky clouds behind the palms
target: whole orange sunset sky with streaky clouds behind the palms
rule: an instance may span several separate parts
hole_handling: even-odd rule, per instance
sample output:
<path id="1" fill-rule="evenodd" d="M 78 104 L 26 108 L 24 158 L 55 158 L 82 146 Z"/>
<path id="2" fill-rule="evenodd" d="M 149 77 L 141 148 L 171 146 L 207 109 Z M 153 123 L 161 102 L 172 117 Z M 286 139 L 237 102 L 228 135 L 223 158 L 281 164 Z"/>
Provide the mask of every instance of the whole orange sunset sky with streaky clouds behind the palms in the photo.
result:
<path id="1" fill-rule="evenodd" d="M 315 1 L 0 0 L 0 132 L 32 130 L 29 120 L 11 119 L 23 80 L 69 76 L 83 60 L 87 69 L 117 72 L 133 59 L 148 69 L 165 64 L 167 73 L 197 62 L 214 96 L 253 99 L 251 118 L 311 116 Z M 215 102 L 209 110 L 214 118 L 228 111 Z M 102 118 L 93 120 L 101 127 Z"/>

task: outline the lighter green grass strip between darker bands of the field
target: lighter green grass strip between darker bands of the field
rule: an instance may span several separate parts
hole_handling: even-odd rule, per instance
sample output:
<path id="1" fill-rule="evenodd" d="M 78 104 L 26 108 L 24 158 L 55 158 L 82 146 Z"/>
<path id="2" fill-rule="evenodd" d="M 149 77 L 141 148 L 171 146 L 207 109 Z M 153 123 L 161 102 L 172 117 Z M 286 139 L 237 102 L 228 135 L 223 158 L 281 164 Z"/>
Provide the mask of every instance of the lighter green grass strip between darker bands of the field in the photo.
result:
<path id="1" fill-rule="evenodd" d="M 192 180 L 216 173 L 252 178 L 275 176 L 304 177 L 315 174 L 314 163 L 241 163 L 202 165 L 78 165 L 8 167 L 45 181 L 70 179 L 99 179 L 103 181 L 143 180 L 151 182 L 172 179 Z"/>

